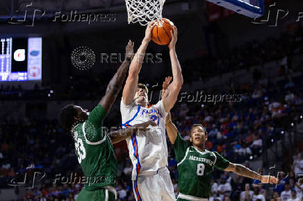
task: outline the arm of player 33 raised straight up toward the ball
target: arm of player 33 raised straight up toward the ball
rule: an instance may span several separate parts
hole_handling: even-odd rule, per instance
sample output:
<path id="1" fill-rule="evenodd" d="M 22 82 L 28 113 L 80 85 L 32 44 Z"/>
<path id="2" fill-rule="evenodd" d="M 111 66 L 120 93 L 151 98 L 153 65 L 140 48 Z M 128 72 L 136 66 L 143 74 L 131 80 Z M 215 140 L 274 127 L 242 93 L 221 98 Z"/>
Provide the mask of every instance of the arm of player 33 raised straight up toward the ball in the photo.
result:
<path id="1" fill-rule="evenodd" d="M 119 94 L 124 78 L 126 76 L 127 69 L 133 58 L 133 42 L 129 40 L 129 43 L 126 45 L 126 58 L 122 62 L 121 66 L 115 73 L 115 76 L 110 80 L 106 88 L 106 94 L 101 98 L 100 105 L 106 109 L 106 112 L 110 111 L 111 106 L 115 103 L 117 94 Z"/>

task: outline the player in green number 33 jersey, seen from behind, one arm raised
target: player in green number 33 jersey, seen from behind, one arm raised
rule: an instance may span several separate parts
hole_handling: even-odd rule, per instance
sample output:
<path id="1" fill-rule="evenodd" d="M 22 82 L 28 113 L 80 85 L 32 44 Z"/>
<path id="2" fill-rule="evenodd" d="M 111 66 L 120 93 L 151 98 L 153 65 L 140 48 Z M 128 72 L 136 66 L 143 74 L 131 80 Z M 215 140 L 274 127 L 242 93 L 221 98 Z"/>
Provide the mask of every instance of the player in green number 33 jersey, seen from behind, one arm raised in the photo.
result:
<path id="1" fill-rule="evenodd" d="M 117 143 L 131 136 L 133 132 L 148 130 L 149 121 L 131 128 L 106 133 L 103 121 L 119 93 L 129 64 L 133 56 L 133 43 L 126 46 L 126 60 L 110 80 L 106 94 L 92 112 L 77 105 L 66 105 L 60 112 L 60 124 L 64 130 L 72 132 L 79 164 L 85 175 L 84 188 L 77 200 L 115 200 L 115 177 L 117 159 L 112 143 Z"/>

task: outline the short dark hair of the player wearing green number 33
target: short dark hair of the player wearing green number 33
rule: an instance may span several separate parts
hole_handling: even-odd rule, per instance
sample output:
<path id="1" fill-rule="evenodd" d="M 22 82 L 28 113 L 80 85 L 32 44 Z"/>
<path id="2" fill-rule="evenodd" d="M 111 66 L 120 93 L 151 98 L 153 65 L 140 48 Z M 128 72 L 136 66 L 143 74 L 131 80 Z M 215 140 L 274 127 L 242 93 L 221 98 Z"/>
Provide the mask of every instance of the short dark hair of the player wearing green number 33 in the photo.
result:
<path id="1" fill-rule="evenodd" d="M 78 112 L 74 108 L 74 104 L 66 105 L 62 108 L 59 114 L 59 122 L 61 128 L 65 131 L 72 130 L 72 125 L 74 124 L 74 116 L 77 116 Z"/>

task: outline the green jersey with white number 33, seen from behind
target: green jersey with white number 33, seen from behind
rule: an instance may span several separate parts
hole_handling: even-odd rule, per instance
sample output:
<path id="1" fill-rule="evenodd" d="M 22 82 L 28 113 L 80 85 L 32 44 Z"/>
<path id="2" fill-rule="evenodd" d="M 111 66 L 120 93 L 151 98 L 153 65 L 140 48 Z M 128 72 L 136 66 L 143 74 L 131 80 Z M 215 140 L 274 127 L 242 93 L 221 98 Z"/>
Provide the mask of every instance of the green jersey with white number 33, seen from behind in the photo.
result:
<path id="1" fill-rule="evenodd" d="M 103 186 L 115 186 L 117 159 L 106 130 L 102 128 L 106 110 L 97 105 L 88 120 L 72 130 L 79 164 L 85 175 L 85 189 L 93 191 Z"/>

